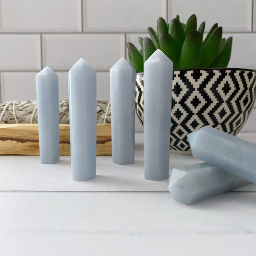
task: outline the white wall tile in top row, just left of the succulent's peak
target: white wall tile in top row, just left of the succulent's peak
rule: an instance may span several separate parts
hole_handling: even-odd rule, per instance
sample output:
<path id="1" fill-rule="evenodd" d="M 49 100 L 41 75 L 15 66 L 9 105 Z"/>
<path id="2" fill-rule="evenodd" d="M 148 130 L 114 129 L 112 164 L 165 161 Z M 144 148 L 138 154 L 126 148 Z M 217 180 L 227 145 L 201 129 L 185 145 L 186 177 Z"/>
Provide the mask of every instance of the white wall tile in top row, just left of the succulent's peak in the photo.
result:
<path id="1" fill-rule="evenodd" d="M 166 18 L 166 0 L 83 0 L 84 31 L 144 32 Z"/>

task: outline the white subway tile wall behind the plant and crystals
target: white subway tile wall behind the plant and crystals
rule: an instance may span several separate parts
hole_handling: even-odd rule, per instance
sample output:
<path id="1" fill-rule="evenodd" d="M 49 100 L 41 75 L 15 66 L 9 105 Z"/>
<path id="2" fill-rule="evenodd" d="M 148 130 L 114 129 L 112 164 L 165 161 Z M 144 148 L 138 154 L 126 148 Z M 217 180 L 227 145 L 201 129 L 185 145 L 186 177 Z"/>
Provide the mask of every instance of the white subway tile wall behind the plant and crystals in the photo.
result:
<path id="1" fill-rule="evenodd" d="M 137 47 L 159 16 L 195 13 L 206 31 L 218 22 L 233 36 L 230 67 L 256 69 L 256 0 L 0 0 L 0 100 L 36 99 L 35 75 L 48 65 L 68 97 L 67 72 L 84 58 L 97 71 L 97 97 L 110 100 L 109 69 Z M 142 131 L 136 118 L 136 131 Z M 256 132 L 256 104 L 244 132 Z"/>

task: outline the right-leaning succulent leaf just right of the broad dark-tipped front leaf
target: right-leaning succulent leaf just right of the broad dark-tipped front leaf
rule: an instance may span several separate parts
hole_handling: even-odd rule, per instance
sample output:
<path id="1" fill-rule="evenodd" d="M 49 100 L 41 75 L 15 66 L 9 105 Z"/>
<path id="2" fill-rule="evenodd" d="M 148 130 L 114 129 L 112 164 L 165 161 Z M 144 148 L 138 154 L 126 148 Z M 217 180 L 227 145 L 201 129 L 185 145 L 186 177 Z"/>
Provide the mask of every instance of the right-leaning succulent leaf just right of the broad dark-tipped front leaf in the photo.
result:
<path id="1" fill-rule="evenodd" d="M 203 45 L 200 67 L 207 68 L 216 59 L 222 38 L 222 27 L 217 27 L 209 37 L 205 46 Z"/>

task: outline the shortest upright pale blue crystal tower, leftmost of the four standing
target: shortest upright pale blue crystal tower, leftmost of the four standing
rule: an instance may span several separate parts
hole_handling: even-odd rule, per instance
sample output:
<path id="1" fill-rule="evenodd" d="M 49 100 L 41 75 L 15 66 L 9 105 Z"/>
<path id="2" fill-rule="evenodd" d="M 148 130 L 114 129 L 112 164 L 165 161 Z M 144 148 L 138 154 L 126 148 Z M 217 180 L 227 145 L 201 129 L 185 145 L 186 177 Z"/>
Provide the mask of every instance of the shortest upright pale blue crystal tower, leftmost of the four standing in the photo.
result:
<path id="1" fill-rule="evenodd" d="M 40 161 L 53 164 L 60 161 L 58 75 L 45 67 L 36 75 L 36 87 Z"/>

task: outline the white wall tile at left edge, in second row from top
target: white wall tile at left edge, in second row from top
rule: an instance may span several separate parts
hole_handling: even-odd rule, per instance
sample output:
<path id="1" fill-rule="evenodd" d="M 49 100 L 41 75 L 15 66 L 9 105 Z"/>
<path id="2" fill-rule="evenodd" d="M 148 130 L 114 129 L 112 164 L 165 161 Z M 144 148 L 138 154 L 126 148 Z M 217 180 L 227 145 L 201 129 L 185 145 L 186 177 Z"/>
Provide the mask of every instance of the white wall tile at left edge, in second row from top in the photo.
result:
<path id="1" fill-rule="evenodd" d="M 39 35 L 0 35 L 0 70 L 40 70 Z"/>

